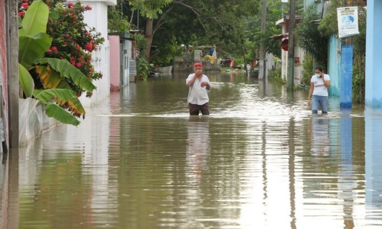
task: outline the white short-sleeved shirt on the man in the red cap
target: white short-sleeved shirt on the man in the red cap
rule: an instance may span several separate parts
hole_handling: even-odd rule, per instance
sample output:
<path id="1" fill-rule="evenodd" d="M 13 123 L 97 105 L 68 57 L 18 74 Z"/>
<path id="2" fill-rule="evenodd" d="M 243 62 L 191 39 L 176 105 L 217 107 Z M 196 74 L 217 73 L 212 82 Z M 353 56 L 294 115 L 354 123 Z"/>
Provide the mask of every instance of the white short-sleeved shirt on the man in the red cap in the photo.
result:
<path id="1" fill-rule="evenodd" d="M 194 77 L 194 75 L 195 73 L 188 75 L 186 79 L 186 85 L 189 82 L 189 80 L 191 80 Z M 204 86 L 202 88 L 200 86 L 200 84 L 203 81 L 208 82 L 208 84 L 210 83 L 206 75 L 202 75 L 202 78 L 200 80 L 198 78 L 195 79 L 194 84 L 191 87 L 189 87 L 187 102 L 191 104 L 197 104 L 197 105 L 203 105 L 205 103 L 208 103 L 209 99 L 207 94 L 207 91 L 208 91 L 207 87 Z"/>

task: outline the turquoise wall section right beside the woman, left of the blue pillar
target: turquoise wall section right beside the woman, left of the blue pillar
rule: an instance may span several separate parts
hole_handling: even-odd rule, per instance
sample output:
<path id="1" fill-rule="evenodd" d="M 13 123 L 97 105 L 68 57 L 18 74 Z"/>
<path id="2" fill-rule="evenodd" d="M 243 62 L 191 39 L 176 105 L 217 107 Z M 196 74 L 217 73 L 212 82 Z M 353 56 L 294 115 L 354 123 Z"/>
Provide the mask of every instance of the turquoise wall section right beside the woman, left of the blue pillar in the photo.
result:
<path id="1" fill-rule="evenodd" d="M 329 40 L 328 69 L 324 71 L 330 76 L 329 94 L 334 96 L 340 96 L 341 83 L 341 54 L 337 49 L 341 49 L 341 40 L 333 35 Z"/>

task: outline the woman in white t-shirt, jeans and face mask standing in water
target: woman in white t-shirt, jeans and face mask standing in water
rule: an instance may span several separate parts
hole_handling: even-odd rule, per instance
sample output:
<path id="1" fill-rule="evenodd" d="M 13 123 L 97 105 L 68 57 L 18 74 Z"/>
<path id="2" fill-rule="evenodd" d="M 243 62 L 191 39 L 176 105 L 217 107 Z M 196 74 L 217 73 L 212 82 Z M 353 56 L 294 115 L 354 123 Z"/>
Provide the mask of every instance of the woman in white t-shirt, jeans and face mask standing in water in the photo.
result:
<path id="1" fill-rule="evenodd" d="M 328 89 L 330 88 L 330 77 L 323 73 L 323 68 L 317 66 L 316 74 L 310 80 L 310 90 L 308 96 L 308 105 L 312 103 L 312 113 L 318 112 L 318 106 L 321 106 L 323 114 L 328 113 Z"/>

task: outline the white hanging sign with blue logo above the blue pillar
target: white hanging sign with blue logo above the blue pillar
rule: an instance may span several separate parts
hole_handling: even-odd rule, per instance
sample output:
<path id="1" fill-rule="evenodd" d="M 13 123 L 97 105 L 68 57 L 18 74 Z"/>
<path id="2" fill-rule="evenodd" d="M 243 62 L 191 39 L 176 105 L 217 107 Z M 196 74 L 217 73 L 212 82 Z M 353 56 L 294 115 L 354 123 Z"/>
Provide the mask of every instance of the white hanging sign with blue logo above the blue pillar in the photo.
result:
<path id="1" fill-rule="evenodd" d="M 351 37 L 359 35 L 358 7 L 337 8 L 338 37 Z"/>

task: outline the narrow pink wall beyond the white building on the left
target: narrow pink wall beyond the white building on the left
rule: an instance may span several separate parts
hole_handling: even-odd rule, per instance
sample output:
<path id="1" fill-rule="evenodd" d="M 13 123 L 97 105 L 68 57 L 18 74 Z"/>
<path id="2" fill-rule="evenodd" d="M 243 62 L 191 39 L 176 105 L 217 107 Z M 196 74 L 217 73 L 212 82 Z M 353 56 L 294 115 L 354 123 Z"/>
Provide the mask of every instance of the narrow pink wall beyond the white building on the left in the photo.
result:
<path id="1" fill-rule="evenodd" d="M 108 36 L 110 45 L 110 91 L 119 90 L 120 62 L 119 36 Z"/>

